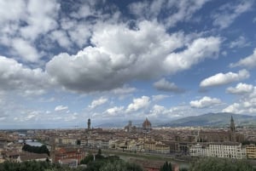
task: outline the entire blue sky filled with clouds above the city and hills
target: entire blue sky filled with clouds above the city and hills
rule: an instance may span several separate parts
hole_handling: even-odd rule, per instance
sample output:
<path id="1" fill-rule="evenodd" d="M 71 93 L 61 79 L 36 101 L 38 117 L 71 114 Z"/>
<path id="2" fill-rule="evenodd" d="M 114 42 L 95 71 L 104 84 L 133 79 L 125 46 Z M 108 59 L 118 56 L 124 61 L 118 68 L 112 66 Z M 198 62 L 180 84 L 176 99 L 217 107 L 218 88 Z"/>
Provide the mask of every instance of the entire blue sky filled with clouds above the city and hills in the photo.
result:
<path id="1" fill-rule="evenodd" d="M 0 0 L 0 128 L 256 116 L 254 0 Z"/>

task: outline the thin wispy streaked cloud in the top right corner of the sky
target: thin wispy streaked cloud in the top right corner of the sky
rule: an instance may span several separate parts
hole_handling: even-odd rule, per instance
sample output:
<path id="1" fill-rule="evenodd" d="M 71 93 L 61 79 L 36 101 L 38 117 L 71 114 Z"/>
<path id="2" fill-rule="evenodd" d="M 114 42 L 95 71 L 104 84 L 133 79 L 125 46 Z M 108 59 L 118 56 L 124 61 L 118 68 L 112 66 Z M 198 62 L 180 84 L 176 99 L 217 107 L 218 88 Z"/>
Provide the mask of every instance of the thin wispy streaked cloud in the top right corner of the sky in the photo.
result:
<path id="1" fill-rule="evenodd" d="M 230 26 L 241 14 L 247 12 L 253 6 L 253 1 L 241 1 L 239 3 L 227 3 L 219 8 L 216 14 L 212 15 L 213 26 L 221 29 Z"/>

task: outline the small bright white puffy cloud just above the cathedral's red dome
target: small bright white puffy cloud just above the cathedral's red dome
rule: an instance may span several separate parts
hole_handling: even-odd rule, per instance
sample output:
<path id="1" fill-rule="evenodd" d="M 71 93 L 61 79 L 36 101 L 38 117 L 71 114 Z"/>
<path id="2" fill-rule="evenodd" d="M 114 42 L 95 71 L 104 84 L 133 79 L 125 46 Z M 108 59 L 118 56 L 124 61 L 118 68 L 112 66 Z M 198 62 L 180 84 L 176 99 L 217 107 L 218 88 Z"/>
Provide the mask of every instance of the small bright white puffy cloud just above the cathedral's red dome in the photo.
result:
<path id="1" fill-rule="evenodd" d="M 141 98 L 133 99 L 133 103 L 128 105 L 126 111 L 138 111 L 140 109 L 145 109 L 150 104 L 150 98 L 148 96 L 142 96 Z"/>

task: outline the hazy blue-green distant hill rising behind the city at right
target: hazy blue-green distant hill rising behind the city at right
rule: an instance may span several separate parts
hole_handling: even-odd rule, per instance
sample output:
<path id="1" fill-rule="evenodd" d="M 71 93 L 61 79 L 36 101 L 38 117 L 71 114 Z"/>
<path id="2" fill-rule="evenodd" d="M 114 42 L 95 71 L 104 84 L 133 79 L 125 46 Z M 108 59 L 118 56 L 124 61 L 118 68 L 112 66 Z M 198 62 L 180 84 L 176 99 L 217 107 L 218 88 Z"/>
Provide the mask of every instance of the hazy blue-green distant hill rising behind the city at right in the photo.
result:
<path id="1" fill-rule="evenodd" d="M 224 127 L 230 125 L 230 118 L 233 116 L 236 126 L 254 126 L 256 117 L 240 115 L 234 113 L 207 113 L 200 116 L 184 117 L 171 121 L 170 123 L 161 124 L 164 127 Z"/>

